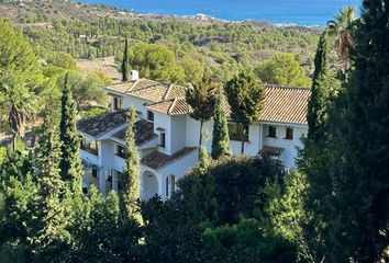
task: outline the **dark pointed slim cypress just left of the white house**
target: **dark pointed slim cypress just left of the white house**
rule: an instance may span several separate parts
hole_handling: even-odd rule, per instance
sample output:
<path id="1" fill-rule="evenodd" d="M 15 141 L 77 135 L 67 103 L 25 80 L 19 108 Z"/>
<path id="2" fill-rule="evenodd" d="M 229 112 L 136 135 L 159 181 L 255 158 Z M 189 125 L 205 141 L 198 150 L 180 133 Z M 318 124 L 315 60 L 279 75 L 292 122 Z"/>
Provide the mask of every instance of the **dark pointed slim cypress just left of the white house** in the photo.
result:
<path id="1" fill-rule="evenodd" d="M 65 77 L 62 95 L 59 123 L 60 139 L 60 178 L 69 183 L 70 193 L 81 193 L 82 163 L 79 155 L 80 138 L 77 133 L 77 106 L 68 87 L 68 75 Z"/>

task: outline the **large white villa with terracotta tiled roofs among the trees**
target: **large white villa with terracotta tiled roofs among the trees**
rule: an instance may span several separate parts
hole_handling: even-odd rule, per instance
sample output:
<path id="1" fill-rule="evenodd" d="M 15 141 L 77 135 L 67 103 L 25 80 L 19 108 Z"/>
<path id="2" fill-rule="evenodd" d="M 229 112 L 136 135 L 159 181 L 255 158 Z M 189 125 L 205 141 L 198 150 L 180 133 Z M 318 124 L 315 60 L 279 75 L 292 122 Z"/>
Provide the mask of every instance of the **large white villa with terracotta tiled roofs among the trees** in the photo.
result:
<path id="1" fill-rule="evenodd" d="M 141 198 L 154 195 L 168 198 L 176 181 L 197 164 L 200 123 L 189 116 L 190 106 L 185 100 L 185 88 L 138 79 L 105 87 L 111 96 L 112 112 L 81 119 L 78 132 L 82 136 L 81 158 L 90 169 L 86 184 L 96 184 L 101 194 L 120 190 L 124 168 L 126 110 L 138 112 L 135 140 L 141 158 Z M 301 136 L 308 133 L 307 105 L 309 89 L 266 87 L 265 106 L 260 121 L 249 125 L 245 155 L 269 155 L 292 168 Z M 230 108 L 226 106 L 226 114 Z M 212 122 L 204 130 L 212 136 Z M 233 153 L 240 153 L 240 134 L 236 125 L 229 124 Z M 205 142 L 211 151 L 212 137 Z M 89 165 L 88 165 L 89 164 Z"/>

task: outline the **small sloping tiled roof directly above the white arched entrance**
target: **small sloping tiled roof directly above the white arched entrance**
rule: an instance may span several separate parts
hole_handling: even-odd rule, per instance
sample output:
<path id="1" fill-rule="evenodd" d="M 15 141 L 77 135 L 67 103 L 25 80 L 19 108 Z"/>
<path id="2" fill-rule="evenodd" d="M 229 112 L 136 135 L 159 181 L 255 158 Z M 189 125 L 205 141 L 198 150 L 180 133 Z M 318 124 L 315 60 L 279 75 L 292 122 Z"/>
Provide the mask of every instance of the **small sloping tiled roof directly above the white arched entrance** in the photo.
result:
<path id="1" fill-rule="evenodd" d="M 190 155 L 196 149 L 197 147 L 185 147 L 171 156 L 159 151 L 153 151 L 152 153 L 143 157 L 141 163 L 152 169 L 158 170 Z"/>

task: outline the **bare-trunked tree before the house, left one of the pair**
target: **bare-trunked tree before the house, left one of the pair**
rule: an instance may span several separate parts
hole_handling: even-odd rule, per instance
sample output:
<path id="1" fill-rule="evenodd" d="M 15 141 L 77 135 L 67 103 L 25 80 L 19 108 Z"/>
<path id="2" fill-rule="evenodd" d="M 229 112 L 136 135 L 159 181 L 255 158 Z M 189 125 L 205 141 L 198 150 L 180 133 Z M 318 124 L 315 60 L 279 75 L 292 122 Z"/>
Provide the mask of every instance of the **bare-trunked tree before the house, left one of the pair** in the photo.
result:
<path id="1" fill-rule="evenodd" d="M 199 147 L 202 145 L 203 124 L 213 116 L 218 85 L 210 75 L 204 73 L 201 81 L 193 83 L 186 92 L 186 100 L 192 108 L 189 115 L 200 121 Z"/>

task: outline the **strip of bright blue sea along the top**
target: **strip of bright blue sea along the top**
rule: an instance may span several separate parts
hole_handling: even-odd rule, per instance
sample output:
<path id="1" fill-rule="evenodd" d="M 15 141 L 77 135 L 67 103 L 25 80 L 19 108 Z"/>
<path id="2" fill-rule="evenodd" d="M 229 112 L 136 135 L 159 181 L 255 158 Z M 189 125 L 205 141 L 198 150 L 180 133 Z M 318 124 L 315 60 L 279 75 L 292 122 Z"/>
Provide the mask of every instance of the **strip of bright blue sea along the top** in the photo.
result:
<path id="1" fill-rule="evenodd" d="M 362 0 L 81 0 L 137 13 L 177 16 L 205 14 L 226 21 L 264 20 L 275 24 L 323 26 L 342 7 Z"/>

